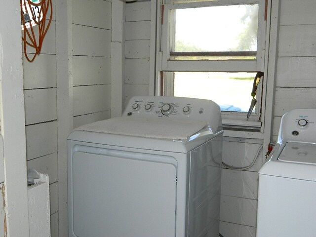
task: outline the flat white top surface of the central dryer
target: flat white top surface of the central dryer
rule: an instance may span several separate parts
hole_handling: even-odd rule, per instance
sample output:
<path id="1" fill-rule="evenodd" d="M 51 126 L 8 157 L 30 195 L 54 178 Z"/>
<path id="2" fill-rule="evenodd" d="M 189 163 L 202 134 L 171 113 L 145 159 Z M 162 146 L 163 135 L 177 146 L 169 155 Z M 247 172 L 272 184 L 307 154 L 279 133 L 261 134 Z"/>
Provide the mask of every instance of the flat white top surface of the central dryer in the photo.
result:
<path id="1" fill-rule="evenodd" d="M 102 120 L 75 130 L 161 139 L 188 139 L 207 125 L 206 121 L 117 117 Z"/>

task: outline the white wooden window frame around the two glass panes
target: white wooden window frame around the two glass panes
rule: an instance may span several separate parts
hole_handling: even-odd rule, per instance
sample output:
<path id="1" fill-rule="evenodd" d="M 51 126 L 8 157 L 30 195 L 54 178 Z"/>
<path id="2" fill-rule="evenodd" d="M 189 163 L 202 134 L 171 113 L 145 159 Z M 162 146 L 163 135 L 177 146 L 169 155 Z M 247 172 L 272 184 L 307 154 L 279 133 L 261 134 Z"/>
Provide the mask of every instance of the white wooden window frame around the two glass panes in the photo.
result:
<path id="1" fill-rule="evenodd" d="M 269 38 L 267 32 L 266 4 L 267 0 L 204 0 L 183 3 L 173 3 L 174 0 L 158 0 L 158 7 L 161 7 L 160 21 L 157 21 L 157 71 L 156 71 L 156 94 L 173 95 L 173 75 L 172 72 L 265 72 L 265 55 L 268 47 Z M 239 4 L 258 4 L 258 34 L 257 34 L 257 54 L 255 60 L 171 60 L 170 48 L 172 48 L 172 37 L 169 32 L 173 32 L 175 19 L 172 17 L 171 10 L 189 7 L 206 7 L 220 5 L 239 5 Z M 159 18 L 158 18 L 159 19 Z M 173 45 L 174 46 L 174 45 Z M 268 52 L 268 51 L 267 51 Z M 161 73 L 163 72 L 163 73 Z M 168 82 L 169 81 L 169 82 Z M 263 110 L 263 88 L 266 79 L 261 80 L 257 89 L 256 112 L 252 113 L 249 121 L 246 121 L 246 112 L 226 112 L 222 111 L 222 118 L 229 126 L 245 126 L 260 129 L 262 120 L 260 111 Z M 249 106 L 250 96 L 249 91 Z M 262 106 L 262 107 L 261 107 Z M 236 122 L 236 120 L 239 120 Z M 243 120 L 243 121 L 240 121 Z M 257 122 L 256 122 L 257 121 Z M 262 129 L 261 129 L 262 130 Z"/>

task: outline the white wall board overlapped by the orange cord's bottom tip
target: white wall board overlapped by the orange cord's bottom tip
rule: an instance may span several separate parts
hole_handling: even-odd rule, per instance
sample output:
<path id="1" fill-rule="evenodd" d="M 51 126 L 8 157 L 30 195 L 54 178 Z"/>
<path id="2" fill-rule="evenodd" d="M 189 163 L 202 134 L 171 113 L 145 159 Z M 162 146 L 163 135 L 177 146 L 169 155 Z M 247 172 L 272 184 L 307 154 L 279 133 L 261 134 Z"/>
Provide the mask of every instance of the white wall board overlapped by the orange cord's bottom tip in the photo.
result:
<path id="1" fill-rule="evenodd" d="M 23 54 L 24 89 L 56 87 L 56 55 L 40 54 L 29 63 Z"/>

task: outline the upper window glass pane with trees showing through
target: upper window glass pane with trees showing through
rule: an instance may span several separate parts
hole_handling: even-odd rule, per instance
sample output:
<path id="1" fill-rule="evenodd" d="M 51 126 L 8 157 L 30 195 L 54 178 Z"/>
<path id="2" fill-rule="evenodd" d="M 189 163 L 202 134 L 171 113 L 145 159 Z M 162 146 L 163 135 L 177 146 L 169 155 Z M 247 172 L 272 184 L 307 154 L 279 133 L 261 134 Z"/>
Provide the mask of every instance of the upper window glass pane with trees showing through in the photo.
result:
<path id="1" fill-rule="evenodd" d="M 258 4 L 209 6 L 173 11 L 176 22 L 172 50 L 174 52 L 257 50 Z M 241 56 L 236 57 L 240 59 Z M 252 55 L 252 58 L 255 56 Z"/>

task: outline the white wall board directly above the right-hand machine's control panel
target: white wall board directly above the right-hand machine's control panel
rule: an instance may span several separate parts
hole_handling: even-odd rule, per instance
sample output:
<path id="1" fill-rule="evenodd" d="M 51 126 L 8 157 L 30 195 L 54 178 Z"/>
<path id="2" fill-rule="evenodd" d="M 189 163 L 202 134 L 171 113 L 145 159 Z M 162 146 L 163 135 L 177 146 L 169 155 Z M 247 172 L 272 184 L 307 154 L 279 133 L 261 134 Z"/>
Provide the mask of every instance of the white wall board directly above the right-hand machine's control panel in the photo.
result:
<path id="1" fill-rule="evenodd" d="M 316 88 L 276 88 L 275 116 L 298 108 L 316 108 Z"/>

